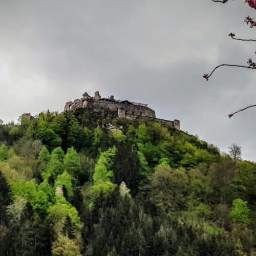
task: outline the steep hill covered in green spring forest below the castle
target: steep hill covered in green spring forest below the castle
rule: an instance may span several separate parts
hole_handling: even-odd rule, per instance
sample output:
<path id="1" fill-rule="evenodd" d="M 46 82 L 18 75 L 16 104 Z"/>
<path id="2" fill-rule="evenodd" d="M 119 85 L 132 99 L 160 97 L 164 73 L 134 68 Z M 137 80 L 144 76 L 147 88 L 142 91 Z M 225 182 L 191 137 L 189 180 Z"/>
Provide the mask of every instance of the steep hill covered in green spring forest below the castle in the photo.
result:
<path id="1" fill-rule="evenodd" d="M 157 122 L 0 124 L 1 256 L 252 256 L 255 203 L 255 163 Z"/>

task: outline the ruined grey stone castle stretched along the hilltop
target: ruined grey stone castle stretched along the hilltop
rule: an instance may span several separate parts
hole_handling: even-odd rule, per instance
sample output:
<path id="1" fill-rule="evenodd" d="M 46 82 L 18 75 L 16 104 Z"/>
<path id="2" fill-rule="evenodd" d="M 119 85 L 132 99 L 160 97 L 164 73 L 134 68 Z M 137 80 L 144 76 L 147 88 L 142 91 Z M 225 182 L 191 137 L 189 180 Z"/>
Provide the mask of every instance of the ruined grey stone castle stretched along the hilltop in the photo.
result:
<path id="1" fill-rule="evenodd" d="M 91 97 L 87 92 L 82 95 L 81 99 L 75 99 L 66 103 L 64 112 L 73 111 L 77 109 L 92 109 L 94 111 L 112 111 L 116 112 L 118 117 L 135 119 L 143 117 L 146 119 L 152 119 L 167 126 L 175 127 L 180 131 L 179 120 L 164 120 L 156 118 L 156 113 L 151 108 L 148 108 L 147 104 L 136 103 L 128 100 L 117 100 L 111 95 L 108 98 L 101 98 L 99 92 L 95 92 L 94 97 Z"/>

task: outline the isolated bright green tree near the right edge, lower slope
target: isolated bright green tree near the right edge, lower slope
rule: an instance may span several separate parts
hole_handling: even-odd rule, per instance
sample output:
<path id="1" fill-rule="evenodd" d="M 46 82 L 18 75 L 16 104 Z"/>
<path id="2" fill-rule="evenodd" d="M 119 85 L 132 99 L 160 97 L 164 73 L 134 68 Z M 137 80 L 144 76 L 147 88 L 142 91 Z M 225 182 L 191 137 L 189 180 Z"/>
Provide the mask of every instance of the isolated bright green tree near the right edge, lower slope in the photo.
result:
<path id="1" fill-rule="evenodd" d="M 240 198 L 233 201 L 232 209 L 230 211 L 230 218 L 233 223 L 248 224 L 249 223 L 250 210 L 247 206 L 247 202 Z"/>

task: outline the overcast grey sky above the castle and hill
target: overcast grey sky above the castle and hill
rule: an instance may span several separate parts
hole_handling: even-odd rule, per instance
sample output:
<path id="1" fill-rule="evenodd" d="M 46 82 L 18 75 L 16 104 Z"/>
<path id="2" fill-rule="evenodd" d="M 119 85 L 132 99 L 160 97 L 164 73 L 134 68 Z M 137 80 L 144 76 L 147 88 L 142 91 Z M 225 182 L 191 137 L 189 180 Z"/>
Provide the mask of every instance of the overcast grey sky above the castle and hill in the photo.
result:
<path id="1" fill-rule="evenodd" d="M 256 72 L 219 69 L 254 57 L 244 1 L 1 0 L 0 118 L 62 111 L 85 91 L 148 103 L 159 118 L 256 161 Z M 255 35 L 256 37 L 256 35 Z"/>

